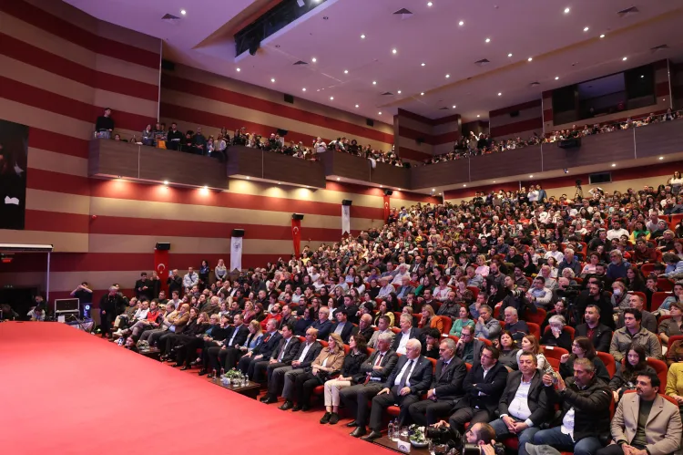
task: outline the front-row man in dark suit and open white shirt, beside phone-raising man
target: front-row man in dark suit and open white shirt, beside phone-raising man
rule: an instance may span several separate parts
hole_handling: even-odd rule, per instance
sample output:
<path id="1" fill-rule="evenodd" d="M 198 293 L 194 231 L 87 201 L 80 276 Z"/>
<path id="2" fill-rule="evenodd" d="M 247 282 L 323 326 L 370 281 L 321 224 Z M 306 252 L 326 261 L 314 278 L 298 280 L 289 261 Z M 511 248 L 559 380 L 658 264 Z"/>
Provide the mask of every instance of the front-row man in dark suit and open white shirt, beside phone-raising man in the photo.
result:
<path id="1" fill-rule="evenodd" d="M 517 437 L 519 455 L 528 455 L 526 443 L 534 439 L 540 424 L 550 417 L 545 395 L 543 375 L 536 369 L 535 355 L 522 353 L 518 360 L 519 371 L 507 376 L 503 396 L 498 402 L 500 419 L 491 422 L 495 439 Z"/>

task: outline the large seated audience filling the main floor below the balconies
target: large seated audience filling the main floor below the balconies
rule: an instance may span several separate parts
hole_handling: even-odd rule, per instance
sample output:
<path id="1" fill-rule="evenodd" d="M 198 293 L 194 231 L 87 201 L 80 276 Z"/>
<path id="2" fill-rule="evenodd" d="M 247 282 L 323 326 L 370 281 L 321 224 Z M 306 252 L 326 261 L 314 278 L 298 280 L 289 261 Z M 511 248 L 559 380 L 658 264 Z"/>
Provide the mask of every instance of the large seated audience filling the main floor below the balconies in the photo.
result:
<path id="1" fill-rule="evenodd" d="M 321 424 L 353 437 L 381 437 L 389 415 L 487 453 L 674 453 L 681 184 L 394 208 L 248 272 L 174 270 L 168 295 L 156 274 L 129 298 L 113 285 L 101 330 L 201 376 L 240 371 L 283 411 L 324 405 Z"/>

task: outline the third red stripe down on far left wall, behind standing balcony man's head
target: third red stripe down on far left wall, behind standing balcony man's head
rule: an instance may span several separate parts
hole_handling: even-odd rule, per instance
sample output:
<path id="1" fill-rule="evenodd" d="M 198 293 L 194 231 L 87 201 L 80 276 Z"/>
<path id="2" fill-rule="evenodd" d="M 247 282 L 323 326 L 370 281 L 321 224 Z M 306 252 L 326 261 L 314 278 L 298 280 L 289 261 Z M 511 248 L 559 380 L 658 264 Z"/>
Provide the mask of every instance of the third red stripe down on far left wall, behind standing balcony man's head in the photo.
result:
<path id="1" fill-rule="evenodd" d="M 97 106 L 58 95 L 43 88 L 29 86 L 10 78 L 0 77 L 0 98 L 11 99 L 26 106 L 55 112 L 73 119 L 92 122 L 93 130 L 95 130 L 97 116 L 102 114 L 102 108 Z M 142 131 L 148 123 L 153 125 L 157 121 L 157 119 L 122 111 L 113 112 L 112 119 L 114 119 L 117 129 L 132 129 L 134 131 Z"/>

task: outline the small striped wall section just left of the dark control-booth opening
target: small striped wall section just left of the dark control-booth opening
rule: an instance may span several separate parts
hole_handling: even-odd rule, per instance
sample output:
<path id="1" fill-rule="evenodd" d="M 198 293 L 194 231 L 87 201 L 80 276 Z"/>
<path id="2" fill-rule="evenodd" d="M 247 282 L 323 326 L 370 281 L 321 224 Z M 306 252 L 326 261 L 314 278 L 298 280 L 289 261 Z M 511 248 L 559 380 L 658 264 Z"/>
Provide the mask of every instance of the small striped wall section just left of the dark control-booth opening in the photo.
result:
<path id="1" fill-rule="evenodd" d="M 520 137 L 529 138 L 543 133 L 541 100 L 517 104 L 488 114 L 491 137 L 498 140 Z"/>

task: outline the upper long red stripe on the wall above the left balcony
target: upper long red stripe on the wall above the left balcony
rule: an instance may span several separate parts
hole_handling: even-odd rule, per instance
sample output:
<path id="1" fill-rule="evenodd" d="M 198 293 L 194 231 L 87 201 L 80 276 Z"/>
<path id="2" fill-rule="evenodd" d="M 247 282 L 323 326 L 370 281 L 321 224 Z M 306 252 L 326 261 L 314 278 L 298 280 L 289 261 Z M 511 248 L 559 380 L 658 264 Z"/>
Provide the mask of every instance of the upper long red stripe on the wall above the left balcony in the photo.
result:
<path id="1" fill-rule="evenodd" d="M 259 110 L 260 112 L 277 115 L 284 117 L 285 119 L 298 120 L 321 128 L 336 129 L 338 131 L 343 131 L 346 136 L 351 136 L 351 139 L 353 139 L 353 137 L 362 137 L 370 140 L 379 140 L 387 144 L 393 143 L 393 135 L 389 133 L 383 133 L 376 129 L 369 129 L 346 121 L 332 119 L 320 114 L 306 112 L 305 110 L 291 108 L 290 106 L 284 106 L 266 99 L 251 97 L 225 88 L 218 88 L 185 78 L 170 76 L 166 73 L 161 75 L 161 87 L 187 93 L 196 97 L 209 98 L 243 108 Z M 235 121 L 240 122 L 240 120 Z M 275 125 L 274 128 L 280 128 L 280 126 Z M 310 136 L 308 137 L 310 138 Z"/>

